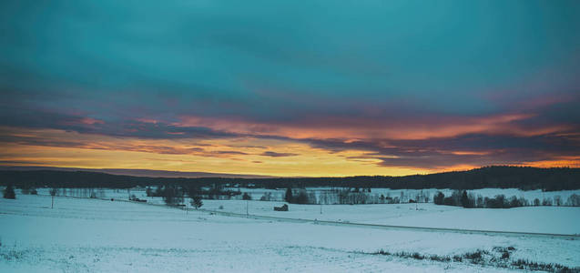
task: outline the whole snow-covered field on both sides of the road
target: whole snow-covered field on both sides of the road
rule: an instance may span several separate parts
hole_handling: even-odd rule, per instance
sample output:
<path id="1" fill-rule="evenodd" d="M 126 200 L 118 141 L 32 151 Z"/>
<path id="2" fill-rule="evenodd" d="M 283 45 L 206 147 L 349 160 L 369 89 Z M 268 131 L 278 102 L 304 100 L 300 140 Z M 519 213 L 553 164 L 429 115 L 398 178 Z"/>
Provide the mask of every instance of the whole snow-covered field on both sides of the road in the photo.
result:
<path id="1" fill-rule="evenodd" d="M 318 206 L 276 214 L 271 207 L 279 202 L 204 203 L 277 217 L 580 234 L 578 207 L 325 206 L 321 215 Z M 72 197 L 50 206 L 47 196 L 0 199 L 0 272 L 511 272 L 521 271 L 506 266 L 518 259 L 580 267 L 577 238 L 325 226 Z M 513 249 L 503 267 L 489 262 L 500 259 L 500 248 Z M 483 250 L 487 262 L 373 254 L 380 250 L 442 258 Z"/>

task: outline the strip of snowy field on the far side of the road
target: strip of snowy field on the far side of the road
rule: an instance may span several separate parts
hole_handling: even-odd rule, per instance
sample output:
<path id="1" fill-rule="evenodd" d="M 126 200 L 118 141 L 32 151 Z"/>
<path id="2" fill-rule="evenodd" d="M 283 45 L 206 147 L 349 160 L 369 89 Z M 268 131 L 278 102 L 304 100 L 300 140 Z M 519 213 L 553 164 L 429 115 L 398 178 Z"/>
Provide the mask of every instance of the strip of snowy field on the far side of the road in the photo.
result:
<path id="1" fill-rule="evenodd" d="M 411 227 L 444 227 L 552 234 L 580 234 L 580 207 L 463 208 L 434 204 L 296 205 L 273 211 L 283 202 L 204 200 L 211 210 L 269 217 L 290 217 Z M 322 210 L 322 214 L 321 214 Z"/>

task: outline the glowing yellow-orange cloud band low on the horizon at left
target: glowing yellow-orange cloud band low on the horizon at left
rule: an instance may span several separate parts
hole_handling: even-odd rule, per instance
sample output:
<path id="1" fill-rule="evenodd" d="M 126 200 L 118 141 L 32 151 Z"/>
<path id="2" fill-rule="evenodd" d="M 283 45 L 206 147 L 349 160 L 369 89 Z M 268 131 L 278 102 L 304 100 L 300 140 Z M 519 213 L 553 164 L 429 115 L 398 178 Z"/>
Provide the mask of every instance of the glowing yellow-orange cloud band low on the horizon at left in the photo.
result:
<path id="1" fill-rule="evenodd" d="M 361 156 L 364 151 L 329 153 L 325 149 L 289 140 L 253 137 L 156 140 L 54 129 L 3 128 L 3 132 L 9 131 L 15 133 L 5 134 L 28 137 L 19 142 L 0 142 L 0 161 L 12 166 L 150 168 L 281 177 L 402 176 L 429 171 L 361 164 L 348 157 Z M 35 142 L 38 137 L 42 142 Z"/>

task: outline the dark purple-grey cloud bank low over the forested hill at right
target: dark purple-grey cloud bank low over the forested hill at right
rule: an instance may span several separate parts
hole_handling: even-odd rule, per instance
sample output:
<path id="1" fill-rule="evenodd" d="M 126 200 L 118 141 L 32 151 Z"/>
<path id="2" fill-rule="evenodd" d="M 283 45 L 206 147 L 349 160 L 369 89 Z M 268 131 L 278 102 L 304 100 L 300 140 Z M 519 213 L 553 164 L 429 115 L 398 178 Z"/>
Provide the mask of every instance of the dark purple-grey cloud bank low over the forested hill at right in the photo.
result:
<path id="1" fill-rule="evenodd" d="M 350 160 L 372 162 L 384 167 L 419 167 L 442 169 L 459 165 L 524 165 L 526 162 L 559 160 L 574 157 L 580 139 L 569 135 L 511 136 L 471 134 L 430 139 L 374 139 L 342 142 L 310 140 L 312 147 L 335 153 L 347 150 L 367 151 Z M 574 162 L 568 160 L 567 162 Z M 577 164 L 577 163 L 576 163 Z"/>

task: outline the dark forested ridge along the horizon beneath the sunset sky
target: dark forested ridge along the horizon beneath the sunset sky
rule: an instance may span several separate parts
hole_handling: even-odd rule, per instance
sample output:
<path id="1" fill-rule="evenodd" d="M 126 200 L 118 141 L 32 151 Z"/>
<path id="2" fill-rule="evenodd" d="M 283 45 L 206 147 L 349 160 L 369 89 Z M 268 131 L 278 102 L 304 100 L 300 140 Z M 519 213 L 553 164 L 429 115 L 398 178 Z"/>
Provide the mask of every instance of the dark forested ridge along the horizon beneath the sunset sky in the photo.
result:
<path id="1" fill-rule="evenodd" d="M 86 171 L 2 170 L 0 185 L 15 187 L 148 187 L 176 185 L 182 187 L 390 187 L 392 189 L 484 187 L 520 188 L 545 191 L 580 189 L 580 168 L 555 167 L 481 167 L 406 177 L 280 177 L 280 178 L 168 178 L 131 177 Z M 227 185 L 228 184 L 228 185 Z"/>

